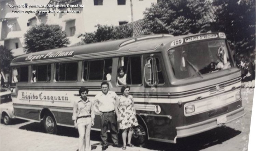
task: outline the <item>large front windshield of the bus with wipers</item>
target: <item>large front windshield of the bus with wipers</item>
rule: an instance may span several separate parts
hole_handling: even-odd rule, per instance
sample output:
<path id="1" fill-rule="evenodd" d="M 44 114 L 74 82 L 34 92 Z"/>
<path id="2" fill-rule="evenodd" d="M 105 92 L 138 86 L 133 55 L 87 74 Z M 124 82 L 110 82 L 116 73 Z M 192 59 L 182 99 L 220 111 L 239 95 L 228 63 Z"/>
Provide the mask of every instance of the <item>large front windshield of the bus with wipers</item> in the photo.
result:
<path id="1" fill-rule="evenodd" d="M 203 77 L 234 66 L 225 40 L 202 41 L 182 45 L 168 51 L 177 79 Z"/>

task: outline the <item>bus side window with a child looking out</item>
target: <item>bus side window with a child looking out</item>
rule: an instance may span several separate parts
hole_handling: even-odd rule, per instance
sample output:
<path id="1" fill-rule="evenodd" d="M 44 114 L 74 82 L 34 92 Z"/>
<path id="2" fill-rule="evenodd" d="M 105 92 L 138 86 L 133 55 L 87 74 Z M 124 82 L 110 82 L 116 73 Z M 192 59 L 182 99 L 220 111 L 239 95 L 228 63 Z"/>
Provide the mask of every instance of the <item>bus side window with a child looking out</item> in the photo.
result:
<path id="1" fill-rule="evenodd" d="M 117 78 L 119 77 L 118 79 L 125 77 L 126 80 L 125 83 L 123 82 L 124 84 L 142 84 L 142 68 L 140 56 L 120 57 L 118 67 L 119 70 L 120 67 L 122 67 L 124 70 L 124 75 L 119 75 L 119 73 L 117 75 Z M 118 79 L 117 83 L 119 85 L 123 85 L 122 82 L 120 82 Z"/>

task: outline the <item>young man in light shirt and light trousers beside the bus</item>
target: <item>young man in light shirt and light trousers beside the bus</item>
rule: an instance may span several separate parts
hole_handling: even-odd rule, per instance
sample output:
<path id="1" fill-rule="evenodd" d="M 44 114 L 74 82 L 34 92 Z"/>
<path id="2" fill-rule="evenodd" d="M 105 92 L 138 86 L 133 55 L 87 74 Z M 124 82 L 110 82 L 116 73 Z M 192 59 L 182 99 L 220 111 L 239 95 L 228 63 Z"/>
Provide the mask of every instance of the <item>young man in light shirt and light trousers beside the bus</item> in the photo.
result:
<path id="1" fill-rule="evenodd" d="M 85 87 L 79 89 L 81 100 L 74 102 L 73 116 L 74 126 L 79 132 L 79 151 L 91 151 L 90 131 L 94 125 L 93 102 L 87 98 L 89 90 Z"/>

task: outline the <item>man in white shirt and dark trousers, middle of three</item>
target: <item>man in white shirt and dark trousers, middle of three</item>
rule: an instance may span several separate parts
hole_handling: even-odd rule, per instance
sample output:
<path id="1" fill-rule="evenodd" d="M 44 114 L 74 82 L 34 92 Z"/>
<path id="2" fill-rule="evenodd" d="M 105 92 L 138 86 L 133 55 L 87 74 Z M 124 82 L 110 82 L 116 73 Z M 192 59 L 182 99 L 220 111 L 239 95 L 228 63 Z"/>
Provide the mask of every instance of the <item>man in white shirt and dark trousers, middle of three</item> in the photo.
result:
<path id="1" fill-rule="evenodd" d="M 110 126 L 111 137 L 114 147 L 122 147 L 118 144 L 117 124 L 115 118 L 115 102 L 119 97 L 115 92 L 109 91 L 109 83 L 101 83 L 101 92 L 95 96 L 94 104 L 97 106 L 95 111 L 100 115 L 100 137 L 102 140 L 102 150 L 108 148 L 108 127 Z"/>

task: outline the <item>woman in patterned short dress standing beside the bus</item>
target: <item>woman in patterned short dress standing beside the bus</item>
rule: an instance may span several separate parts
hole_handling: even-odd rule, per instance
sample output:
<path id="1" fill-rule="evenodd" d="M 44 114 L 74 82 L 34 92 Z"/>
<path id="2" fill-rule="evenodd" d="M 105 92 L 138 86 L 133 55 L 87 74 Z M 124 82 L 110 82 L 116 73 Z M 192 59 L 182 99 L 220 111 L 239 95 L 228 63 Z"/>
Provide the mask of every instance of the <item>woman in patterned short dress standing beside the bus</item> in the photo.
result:
<path id="1" fill-rule="evenodd" d="M 121 88 L 123 93 L 120 99 L 116 101 L 115 112 L 117 116 L 117 122 L 119 123 L 119 129 L 122 129 L 122 139 L 123 139 L 123 150 L 126 146 L 134 147 L 131 144 L 132 128 L 138 126 L 138 120 L 136 117 L 136 110 L 134 108 L 133 97 L 129 95 L 130 87 L 125 85 Z M 126 137 L 128 131 L 128 140 L 126 144 Z"/>

